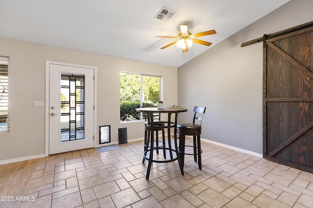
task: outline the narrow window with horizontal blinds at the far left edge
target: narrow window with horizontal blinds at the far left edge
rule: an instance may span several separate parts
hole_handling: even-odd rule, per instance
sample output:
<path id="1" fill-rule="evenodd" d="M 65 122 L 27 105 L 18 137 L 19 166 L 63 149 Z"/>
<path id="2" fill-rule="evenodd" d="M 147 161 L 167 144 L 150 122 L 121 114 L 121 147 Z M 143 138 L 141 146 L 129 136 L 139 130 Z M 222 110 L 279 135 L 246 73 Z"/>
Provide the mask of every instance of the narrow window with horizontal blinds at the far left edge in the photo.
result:
<path id="1" fill-rule="evenodd" d="M 9 58 L 0 57 L 0 132 L 9 132 Z"/>

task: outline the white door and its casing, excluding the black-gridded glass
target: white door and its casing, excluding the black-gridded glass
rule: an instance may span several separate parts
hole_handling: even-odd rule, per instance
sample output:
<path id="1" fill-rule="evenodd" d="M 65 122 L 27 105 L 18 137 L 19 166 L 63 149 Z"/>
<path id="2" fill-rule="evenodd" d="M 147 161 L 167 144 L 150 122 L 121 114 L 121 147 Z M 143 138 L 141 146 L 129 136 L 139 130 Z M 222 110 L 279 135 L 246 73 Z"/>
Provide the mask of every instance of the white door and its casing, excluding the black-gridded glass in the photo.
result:
<path id="1" fill-rule="evenodd" d="M 84 139 L 61 142 L 61 75 L 85 76 Z M 46 144 L 45 155 L 95 147 L 96 67 L 46 61 Z"/>

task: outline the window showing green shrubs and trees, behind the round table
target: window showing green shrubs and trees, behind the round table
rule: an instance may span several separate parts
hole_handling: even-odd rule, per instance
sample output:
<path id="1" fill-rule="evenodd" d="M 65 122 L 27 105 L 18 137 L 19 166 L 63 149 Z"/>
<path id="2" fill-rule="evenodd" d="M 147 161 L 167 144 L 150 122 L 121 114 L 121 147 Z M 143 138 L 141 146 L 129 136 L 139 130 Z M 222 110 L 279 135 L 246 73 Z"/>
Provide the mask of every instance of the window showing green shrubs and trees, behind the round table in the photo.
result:
<path id="1" fill-rule="evenodd" d="M 161 77 L 121 72 L 120 73 L 120 120 L 142 119 L 135 111 L 140 106 L 153 106 L 160 100 Z"/>

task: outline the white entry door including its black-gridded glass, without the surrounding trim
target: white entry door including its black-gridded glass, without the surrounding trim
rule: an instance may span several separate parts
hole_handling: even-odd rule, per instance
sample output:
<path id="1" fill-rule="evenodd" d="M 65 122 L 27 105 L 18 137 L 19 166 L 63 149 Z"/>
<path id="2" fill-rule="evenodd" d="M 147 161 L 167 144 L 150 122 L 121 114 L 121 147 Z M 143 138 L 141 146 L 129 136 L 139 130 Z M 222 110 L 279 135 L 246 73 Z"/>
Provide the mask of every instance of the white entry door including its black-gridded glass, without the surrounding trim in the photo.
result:
<path id="1" fill-rule="evenodd" d="M 94 68 L 48 68 L 49 154 L 94 147 Z"/>

